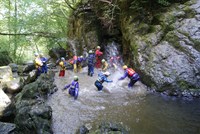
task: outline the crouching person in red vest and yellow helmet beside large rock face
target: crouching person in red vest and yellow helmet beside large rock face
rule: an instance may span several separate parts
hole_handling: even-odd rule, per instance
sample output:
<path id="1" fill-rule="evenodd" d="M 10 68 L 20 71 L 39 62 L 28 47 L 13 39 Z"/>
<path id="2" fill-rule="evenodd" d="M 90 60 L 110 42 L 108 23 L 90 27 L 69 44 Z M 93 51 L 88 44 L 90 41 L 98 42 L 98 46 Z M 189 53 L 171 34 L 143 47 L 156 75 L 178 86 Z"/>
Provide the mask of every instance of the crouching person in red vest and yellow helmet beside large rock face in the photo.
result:
<path id="1" fill-rule="evenodd" d="M 123 66 L 123 69 L 124 75 L 118 80 L 123 80 L 128 76 L 128 78 L 130 79 L 128 87 L 131 88 L 140 79 L 140 76 L 132 68 L 128 68 L 126 65 Z"/>

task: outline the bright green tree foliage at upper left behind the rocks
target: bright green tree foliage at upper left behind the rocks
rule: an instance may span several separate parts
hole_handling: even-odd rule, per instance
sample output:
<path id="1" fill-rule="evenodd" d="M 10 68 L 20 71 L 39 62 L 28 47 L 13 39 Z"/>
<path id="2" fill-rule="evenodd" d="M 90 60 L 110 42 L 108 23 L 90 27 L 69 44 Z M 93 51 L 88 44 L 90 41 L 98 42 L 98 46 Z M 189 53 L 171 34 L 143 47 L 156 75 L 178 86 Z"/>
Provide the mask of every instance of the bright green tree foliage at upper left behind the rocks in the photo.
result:
<path id="1" fill-rule="evenodd" d="M 20 62 L 32 59 L 36 51 L 66 46 L 69 6 L 79 1 L 1 1 L 0 51 L 9 51 Z"/>

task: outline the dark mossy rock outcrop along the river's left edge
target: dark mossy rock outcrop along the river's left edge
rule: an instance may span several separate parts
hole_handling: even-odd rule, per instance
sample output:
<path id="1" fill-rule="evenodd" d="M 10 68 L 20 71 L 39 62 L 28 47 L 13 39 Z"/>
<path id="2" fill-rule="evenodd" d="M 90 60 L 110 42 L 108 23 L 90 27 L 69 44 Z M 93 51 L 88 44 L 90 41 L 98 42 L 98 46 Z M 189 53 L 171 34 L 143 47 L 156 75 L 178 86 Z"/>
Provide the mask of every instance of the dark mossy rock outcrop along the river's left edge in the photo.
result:
<path id="1" fill-rule="evenodd" d="M 52 133 L 52 109 L 45 104 L 45 99 L 57 90 L 53 77 L 53 72 L 42 74 L 35 82 L 24 86 L 16 96 L 16 133 Z"/>

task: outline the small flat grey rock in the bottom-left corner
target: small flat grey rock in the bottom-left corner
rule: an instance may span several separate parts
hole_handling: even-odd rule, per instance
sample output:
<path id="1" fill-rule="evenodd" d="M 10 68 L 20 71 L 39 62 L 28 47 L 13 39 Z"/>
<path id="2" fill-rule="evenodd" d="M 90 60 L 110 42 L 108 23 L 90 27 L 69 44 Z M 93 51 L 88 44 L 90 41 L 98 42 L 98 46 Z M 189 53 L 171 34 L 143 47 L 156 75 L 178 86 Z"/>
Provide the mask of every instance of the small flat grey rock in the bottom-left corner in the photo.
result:
<path id="1" fill-rule="evenodd" d="M 16 128 L 15 124 L 0 122 L 1 134 L 14 134 L 15 128 Z"/>

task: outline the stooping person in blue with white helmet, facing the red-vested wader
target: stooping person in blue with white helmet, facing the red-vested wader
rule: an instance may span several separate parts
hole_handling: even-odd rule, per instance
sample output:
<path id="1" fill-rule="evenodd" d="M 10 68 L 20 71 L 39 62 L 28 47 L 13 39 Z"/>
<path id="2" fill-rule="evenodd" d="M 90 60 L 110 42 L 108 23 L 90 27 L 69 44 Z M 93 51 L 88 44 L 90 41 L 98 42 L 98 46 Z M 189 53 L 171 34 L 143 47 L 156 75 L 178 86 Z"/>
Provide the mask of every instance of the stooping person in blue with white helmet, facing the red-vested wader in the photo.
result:
<path id="1" fill-rule="evenodd" d="M 98 74 L 98 79 L 94 83 L 94 85 L 97 87 L 98 91 L 101 91 L 103 89 L 103 83 L 104 82 L 108 82 L 108 83 L 113 82 L 112 80 L 107 79 L 107 77 L 109 75 L 110 75 L 109 72 L 100 72 Z"/>

